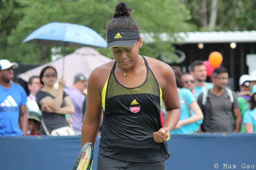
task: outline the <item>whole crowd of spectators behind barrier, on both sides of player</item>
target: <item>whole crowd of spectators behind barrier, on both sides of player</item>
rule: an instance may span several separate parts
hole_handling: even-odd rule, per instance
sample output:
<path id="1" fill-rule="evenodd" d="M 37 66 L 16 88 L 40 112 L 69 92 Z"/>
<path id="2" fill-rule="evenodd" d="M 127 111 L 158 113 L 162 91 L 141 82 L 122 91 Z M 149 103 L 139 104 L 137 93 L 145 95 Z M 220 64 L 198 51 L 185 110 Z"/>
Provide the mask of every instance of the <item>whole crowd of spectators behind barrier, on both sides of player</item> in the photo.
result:
<path id="1" fill-rule="evenodd" d="M 47 66 L 30 77 L 26 96 L 23 87 L 13 83 L 17 67 L 0 60 L 0 136 L 80 135 L 88 77 L 77 74 L 71 87 L 61 77 L 56 89 L 57 71 Z M 189 73 L 172 69 L 181 104 L 180 121 L 172 134 L 256 132 L 256 70 L 240 77 L 240 91 L 235 92 L 227 88 L 229 75 L 222 66 L 214 69 L 212 82 L 206 82 L 202 61 L 191 63 Z"/>

